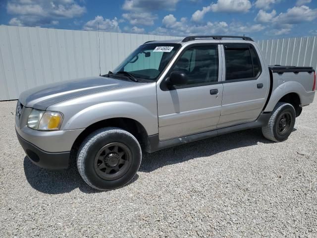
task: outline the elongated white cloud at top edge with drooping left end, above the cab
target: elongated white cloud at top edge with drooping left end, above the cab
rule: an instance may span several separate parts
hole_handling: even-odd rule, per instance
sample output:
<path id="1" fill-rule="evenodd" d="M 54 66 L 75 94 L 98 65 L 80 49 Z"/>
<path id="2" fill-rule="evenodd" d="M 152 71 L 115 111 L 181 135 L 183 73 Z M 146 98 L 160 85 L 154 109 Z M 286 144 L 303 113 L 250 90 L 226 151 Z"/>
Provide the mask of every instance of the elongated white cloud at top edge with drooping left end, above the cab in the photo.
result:
<path id="1" fill-rule="evenodd" d="M 211 3 L 209 6 L 204 6 L 202 10 L 197 10 L 192 15 L 191 20 L 200 22 L 203 20 L 206 13 L 213 12 L 248 12 L 251 8 L 250 0 L 217 0 L 216 3 Z"/>

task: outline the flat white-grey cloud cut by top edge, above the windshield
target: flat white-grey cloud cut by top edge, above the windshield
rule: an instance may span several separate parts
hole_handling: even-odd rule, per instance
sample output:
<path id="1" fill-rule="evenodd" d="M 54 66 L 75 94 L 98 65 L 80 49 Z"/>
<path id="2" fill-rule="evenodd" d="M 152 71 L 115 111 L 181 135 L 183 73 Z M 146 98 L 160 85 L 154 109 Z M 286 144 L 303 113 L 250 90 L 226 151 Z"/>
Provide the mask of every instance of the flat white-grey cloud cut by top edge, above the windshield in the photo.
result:
<path id="1" fill-rule="evenodd" d="M 123 10 L 127 11 L 151 11 L 151 10 L 175 10 L 179 0 L 125 0 Z"/>

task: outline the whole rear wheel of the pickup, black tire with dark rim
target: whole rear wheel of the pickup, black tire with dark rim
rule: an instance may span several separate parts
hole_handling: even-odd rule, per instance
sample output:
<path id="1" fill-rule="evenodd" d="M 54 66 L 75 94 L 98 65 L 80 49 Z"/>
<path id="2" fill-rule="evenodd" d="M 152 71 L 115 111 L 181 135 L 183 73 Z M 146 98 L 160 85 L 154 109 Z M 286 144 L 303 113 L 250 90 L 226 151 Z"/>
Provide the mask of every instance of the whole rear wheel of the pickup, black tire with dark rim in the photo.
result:
<path id="1" fill-rule="evenodd" d="M 262 127 L 262 133 L 268 140 L 284 141 L 293 131 L 295 119 L 294 107 L 289 103 L 279 102 L 273 109 L 267 124 Z"/>

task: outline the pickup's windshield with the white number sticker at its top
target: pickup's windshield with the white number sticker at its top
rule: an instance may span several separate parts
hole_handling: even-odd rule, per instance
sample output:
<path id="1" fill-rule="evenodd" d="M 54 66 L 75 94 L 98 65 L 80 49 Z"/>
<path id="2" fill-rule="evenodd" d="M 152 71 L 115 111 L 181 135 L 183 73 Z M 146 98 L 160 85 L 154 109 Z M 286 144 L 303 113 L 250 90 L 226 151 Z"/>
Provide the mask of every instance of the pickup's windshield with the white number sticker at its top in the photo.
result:
<path id="1" fill-rule="evenodd" d="M 123 60 L 112 73 L 116 75 L 128 72 L 137 79 L 155 81 L 180 46 L 180 44 L 166 43 L 142 45 Z"/>

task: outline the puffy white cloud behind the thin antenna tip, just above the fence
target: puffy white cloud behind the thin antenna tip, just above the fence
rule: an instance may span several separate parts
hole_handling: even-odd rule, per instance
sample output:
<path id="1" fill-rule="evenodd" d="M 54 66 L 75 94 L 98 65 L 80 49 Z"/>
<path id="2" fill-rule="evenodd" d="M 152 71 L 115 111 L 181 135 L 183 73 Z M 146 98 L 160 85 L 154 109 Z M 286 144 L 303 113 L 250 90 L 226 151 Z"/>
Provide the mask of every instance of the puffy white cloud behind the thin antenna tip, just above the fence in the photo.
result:
<path id="1" fill-rule="evenodd" d="M 86 24 L 83 27 L 83 30 L 96 31 L 98 30 L 98 23 L 99 23 L 99 29 L 101 31 L 121 32 L 121 29 L 119 27 L 119 22 L 116 17 L 110 20 L 110 19 L 104 19 L 103 16 L 96 16 L 94 20 L 90 20 L 86 22 Z"/>

